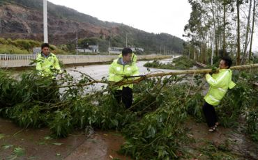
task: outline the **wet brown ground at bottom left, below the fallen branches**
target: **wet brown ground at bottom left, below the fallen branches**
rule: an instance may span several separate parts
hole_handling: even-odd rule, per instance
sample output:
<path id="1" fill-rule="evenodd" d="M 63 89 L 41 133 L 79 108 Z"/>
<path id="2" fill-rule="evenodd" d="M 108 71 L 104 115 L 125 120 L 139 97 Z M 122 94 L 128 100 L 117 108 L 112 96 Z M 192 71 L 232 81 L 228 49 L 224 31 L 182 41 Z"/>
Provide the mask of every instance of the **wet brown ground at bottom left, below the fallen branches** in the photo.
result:
<path id="1" fill-rule="evenodd" d="M 123 144 L 116 132 L 75 131 L 68 138 L 51 138 L 50 129 L 21 129 L 0 118 L 0 159 L 129 159 L 116 153 Z"/>

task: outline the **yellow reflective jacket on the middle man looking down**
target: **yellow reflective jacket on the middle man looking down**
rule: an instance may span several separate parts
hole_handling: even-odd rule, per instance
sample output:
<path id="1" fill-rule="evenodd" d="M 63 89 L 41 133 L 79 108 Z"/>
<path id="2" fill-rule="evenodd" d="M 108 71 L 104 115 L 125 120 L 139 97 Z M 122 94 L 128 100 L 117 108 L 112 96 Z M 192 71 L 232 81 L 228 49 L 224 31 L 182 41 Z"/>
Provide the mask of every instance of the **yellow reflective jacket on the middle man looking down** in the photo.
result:
<path id="1" fill-rule="evenodd" d="M 127 78 L 125 79 L 124 76 L 137 76 L 139 75 L 138 67 L 135 63 L 128 63 L 123 65 L 121 63 L 122 58 L 118 58 L 113 61 L 113 63 L 109 66 L 109 81 L 132 81 L 137 78 Z M 122 90 L 123 87 L 130 87 L 132 88 L 132 84 L 126 84 L 116 88 L 117 90 Z"/>

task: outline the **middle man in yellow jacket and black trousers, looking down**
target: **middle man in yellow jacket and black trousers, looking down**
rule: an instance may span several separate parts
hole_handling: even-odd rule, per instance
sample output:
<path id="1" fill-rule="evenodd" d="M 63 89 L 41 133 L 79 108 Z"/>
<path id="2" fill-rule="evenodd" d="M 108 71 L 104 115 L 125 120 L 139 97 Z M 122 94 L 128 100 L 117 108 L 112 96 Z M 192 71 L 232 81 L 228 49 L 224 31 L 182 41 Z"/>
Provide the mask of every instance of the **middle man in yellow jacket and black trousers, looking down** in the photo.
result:
<path id="1" fill-rule="evenodd" d="M 125 78 L 139 75 L 138 67 L 132 62 L 132 49 L 124 48 L 122 57 L 113 61 L 109 66 L 109 81 L 130 81 L 133 78 Z M 127 84 L 115 88 L 114 96 L 118 103 L 125 104 L 126 109 L 132 105 L 132 84 Z"/>

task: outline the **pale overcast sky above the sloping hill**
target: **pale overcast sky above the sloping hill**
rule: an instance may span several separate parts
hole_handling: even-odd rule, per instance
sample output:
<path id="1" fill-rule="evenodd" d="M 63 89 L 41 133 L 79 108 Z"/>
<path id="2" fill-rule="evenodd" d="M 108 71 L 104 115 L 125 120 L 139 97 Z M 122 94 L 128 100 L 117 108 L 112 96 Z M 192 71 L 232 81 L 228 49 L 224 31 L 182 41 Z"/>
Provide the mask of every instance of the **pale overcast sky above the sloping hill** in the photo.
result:
<path id="1" fill-rule="evenodd" d="M 150 33 L 169 33 L 182 37 L 191 6 L 188 0 L 48 0 L 73 8 L 103 21 L 127 24 Z M 258 34 L 253 49 L 258 51 Z"/>

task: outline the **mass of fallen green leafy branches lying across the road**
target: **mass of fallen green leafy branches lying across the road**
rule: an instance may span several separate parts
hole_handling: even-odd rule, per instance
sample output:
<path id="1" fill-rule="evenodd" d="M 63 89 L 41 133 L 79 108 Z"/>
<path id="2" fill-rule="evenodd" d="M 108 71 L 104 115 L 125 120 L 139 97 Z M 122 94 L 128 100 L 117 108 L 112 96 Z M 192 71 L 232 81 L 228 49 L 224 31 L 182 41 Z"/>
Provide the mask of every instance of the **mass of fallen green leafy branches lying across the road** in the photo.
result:
<path id="1" fill-rule="evenodd" d="M 249 85 L 257 77 L 234 75 L 238 87 L 227 94 L 219 109 L 222 125 L 232 124 L 241 113 L 246 113 L 247 131 L 257 138 L 257 90 Z M 239 80 L 240 77 L 250 81 Z M 54 81 L 32 72 L 16 80 L 1 70 L 0 115 L 20 127 L 49 127 L 57 137 L 87 127 L 116 129 L 126 137 L 120 152 L 135 159 L 176 159 L 187 154 L 181 148 L 188 142 L 183 123 L 189 114 L 203 121 L 202 77 L 195 75 L 192 84 L 183 83 L 185 76 L 141 81 L 133 89 L 134 102 L 127 110 L 123 104 L 117 104 L 112 94 L 107 94 L 114 90 L 106 79 L 96 81 L 83 73 L 79 79 L 64 73 L 63 78 Z M 97 82 L 108 83 L 108 87 L 89 90 Z M 61 94 L 56 83 L 66 86 Z M 244 90 L 246 96 L 241 96 L 239 90 Z M 256 112 L 251 113 L 252 110 Z"/>

